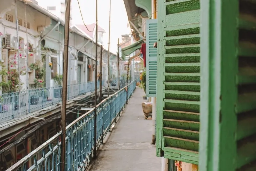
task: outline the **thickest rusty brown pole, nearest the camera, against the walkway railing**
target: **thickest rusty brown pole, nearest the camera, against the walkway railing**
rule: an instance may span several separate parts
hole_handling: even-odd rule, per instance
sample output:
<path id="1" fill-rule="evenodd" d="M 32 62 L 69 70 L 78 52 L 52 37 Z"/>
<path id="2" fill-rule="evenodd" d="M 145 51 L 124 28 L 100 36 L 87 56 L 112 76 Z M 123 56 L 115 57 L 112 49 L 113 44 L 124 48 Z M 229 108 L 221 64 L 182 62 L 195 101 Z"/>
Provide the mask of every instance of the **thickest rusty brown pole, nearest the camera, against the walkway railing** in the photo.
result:
<path id="1" fill-rule="evenodd" d="M 67 0 L 65 13 L 65 35 L 64 35 L 64 52 L 63 52 L 63 86 L 62 86 L 62 105 L 61 105 L 61 158 L 60 170 L 65 171 L 65 138 L 66 138 L 66 107 L 67 107 L 67 83 L 68 83 L 68 41 L 69 41 L 69 17 L 70 2 Z"/>

